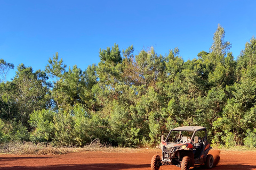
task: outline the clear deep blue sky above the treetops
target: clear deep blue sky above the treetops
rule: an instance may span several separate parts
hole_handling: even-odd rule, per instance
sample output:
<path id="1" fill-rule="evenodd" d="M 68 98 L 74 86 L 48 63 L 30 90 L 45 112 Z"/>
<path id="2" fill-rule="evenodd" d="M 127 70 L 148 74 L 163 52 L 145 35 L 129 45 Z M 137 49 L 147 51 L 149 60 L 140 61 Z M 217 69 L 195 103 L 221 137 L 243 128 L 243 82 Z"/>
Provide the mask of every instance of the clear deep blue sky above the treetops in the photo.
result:
<path id="1" fill-rule="evenodd" d="M 0 58 L 16 67 L 45 69 L 55 52 L 82 70 L 98 64 L 99 49 L 135 54 L 153 46 L 165 55 L 178 47 L 185 61 L 209 52 L 218 23 L 236 58 L 256 36 L 256 1 L 26 1 L 0 0 Z"/>

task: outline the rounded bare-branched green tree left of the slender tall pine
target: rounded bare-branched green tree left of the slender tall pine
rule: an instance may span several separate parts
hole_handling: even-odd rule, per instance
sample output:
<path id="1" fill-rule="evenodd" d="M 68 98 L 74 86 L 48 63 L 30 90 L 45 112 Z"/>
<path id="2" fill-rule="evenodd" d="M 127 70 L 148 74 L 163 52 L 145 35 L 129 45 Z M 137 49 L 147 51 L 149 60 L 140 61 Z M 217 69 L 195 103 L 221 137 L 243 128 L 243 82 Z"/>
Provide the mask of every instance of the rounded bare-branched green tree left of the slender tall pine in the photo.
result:
<path id="1" fill-rule="evenodd" d="M 27 123 L 34 111 L 50 107 L 50 87 L 46 73 L 33 72 L 32 67 L 20 64 L 12 82 L 12 112 L 17 121 Z"/>

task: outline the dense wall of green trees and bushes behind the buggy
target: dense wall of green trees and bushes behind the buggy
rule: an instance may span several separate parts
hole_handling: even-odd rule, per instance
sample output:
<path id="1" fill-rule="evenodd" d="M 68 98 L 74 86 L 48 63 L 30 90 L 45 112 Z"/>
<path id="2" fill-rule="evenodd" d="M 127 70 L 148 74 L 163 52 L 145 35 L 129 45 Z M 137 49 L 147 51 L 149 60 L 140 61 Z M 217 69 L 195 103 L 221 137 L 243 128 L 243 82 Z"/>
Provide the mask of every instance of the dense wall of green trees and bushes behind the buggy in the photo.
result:
<path id="1" fill-rule="evenodd" d="M 45 72 L 0 60 L 0 142 L 31 140 L 84 146 L 156 146 L 177 126 L 205 126 L 212 143 L 256 147 L 256 39 L 237 61 L 218 25 L 209 52 L 184 61 L 179 48 L 100 49 L 98 65 L 65 70 L 58 53 Z M 48 81 L 46 73 L 52 78 Z M 29 139 L 28 139 L 29 137 Z"/>

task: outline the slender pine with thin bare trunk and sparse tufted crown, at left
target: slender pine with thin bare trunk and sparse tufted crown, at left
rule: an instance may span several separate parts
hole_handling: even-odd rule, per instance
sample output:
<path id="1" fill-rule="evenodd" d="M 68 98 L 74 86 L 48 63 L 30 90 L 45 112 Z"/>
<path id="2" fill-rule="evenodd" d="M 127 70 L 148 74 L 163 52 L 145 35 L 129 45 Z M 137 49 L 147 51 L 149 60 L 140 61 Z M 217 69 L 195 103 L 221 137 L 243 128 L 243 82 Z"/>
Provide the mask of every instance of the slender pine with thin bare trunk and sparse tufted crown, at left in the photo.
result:
<path id="1" fill-rule="evenodd" d="M 60 104 L 58 102 L 58 89 L 59 89 L 59 78 L 61 78 L 62 74 L 65 73 L 65 68 L 67 67 L 66 64 L 63 64 L 62 58 L 59 60 L 59 54 L 58 52 L 55 53 L 55 56 L 53 55 L 53 60 L 49 58 L 48 60 L 49 64 L 45 66 L 45 72 L 48 73 L 51 78 L 56 78 L 56 81 L 54 83 L 53 91 L 55 93 L 55 101 L 57 103 L 57 106 L 60 107 Z"/>

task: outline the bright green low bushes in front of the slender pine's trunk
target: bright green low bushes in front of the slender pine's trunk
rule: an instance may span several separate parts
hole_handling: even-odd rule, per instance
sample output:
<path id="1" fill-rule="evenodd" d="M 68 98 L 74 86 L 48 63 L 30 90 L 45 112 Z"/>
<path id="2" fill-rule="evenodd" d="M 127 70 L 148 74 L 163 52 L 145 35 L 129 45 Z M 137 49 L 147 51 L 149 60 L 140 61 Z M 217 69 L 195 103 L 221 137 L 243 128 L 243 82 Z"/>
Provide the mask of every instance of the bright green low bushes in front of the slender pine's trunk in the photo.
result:
<path id="1" fill-rule="evenodd" d="M 35 111 L 30 115 L 29 124 L 33 131 L 30 140 L 34 143 L 52 142 L 56 146 L 85 146 L 94 139 L 109 142 L 111 138 L 108 123 L 97 113 L 87 113 L 82 105 L 69 111 Z M 0 138 L 2 137 L 0 133 Z"/>

